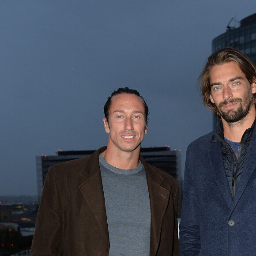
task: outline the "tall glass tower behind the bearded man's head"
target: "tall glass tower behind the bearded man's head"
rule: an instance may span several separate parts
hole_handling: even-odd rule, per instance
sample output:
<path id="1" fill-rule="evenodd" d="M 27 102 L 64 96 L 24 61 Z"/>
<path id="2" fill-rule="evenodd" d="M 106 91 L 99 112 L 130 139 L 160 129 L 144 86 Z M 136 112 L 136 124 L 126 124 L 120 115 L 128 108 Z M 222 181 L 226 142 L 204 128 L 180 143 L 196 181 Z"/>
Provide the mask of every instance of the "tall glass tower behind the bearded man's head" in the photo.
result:
<path id="1" fill-rule="evenodd" d="M 240 26 L 236 26 L 240 23 Z M 256 13 L 240 22 L 231 19 L 226 32 L 212 40 L 212 51 L 231 46 L 245 53 L 256 64 Z M 219 119 L 213 117 L 213 128 L 217 128 Z"/>

